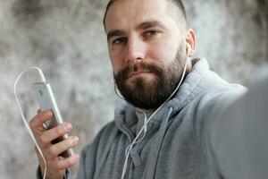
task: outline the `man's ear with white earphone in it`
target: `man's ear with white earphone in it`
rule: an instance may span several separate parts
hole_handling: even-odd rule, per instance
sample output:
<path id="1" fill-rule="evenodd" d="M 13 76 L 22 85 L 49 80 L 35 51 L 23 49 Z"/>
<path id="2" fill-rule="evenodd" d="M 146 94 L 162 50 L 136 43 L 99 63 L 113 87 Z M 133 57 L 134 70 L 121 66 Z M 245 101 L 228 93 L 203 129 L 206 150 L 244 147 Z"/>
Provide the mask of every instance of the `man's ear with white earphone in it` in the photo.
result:
<path id="1" fill-rule="evenodd" d="M 186 34 L 186 55 L 192 57 L 196 52 L 196 33 L 189 29 Z"/>

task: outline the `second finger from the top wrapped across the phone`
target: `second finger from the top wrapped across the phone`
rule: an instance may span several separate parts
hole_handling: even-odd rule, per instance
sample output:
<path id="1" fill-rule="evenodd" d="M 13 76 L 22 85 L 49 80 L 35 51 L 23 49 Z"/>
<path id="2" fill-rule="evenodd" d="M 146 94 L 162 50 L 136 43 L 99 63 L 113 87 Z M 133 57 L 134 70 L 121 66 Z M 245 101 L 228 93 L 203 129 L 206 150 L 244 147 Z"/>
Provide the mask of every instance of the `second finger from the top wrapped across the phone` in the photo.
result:
<path id="1" fill-rule="evenodd" d="M 45 147 L 55 139 L 62 137 L 65 133 L 71 132 L 72 125 L 70 123 L 59 124 L 56 127 L 43 132 L 40 136 L 42 146 Z"/>

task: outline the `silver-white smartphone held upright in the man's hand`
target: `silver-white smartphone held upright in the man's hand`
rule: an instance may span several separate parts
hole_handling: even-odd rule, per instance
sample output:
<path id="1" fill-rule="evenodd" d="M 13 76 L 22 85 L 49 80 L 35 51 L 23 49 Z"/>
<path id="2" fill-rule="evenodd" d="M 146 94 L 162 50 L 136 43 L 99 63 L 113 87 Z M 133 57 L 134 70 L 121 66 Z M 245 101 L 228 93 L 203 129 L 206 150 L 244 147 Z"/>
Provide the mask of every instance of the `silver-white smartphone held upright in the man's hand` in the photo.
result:
<path id="1" fill-rule="evenodd" d="M 56 100 L 54 98 L 53 91 L 49 83 L 35 82 L 32 84 L 32 88 L 35 91 L 36 98 L 38 99 L 39 107 L 42 111 L 52 109 L 54 117 L 48 120 L 44 125 L 47 129 L 51 129 L 58 124 L 63 124 L 63 117 L 60 113 L 59 107 L 57 106 Z M 64 134 L 62 137 L 53 141 L 57 143 L 68 138 L 68 134 Z M 73 154 L 72 149 L 68 149 L 60 154 L 63 158 L 68 158 Z"/>

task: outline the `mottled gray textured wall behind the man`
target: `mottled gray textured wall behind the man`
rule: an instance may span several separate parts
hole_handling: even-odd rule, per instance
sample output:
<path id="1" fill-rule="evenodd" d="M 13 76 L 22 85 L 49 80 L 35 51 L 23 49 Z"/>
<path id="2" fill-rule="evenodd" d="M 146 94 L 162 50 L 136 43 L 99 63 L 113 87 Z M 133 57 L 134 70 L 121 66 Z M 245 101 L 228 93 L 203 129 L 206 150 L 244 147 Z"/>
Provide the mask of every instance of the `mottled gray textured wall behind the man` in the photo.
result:
<path id="1" fill-rule="evenodd" d="M 66 121 L 80 136 L 77 152 L 107 121 L 118 102 L 113 92 L 102 17 L 107 0 L 0 0 L 0 178 L 34 178 L 33 142 L 13 96 L 16 76 L 43 69 Z M 268 63 L 266 0 L 186 1 L 197 31 L 197 55 L 229 81 L 245 82 Z M 29 81 L 18 94 L 27 118 L 38 108 Z M 75 171 L 75 170 L 74 170 Z"/>

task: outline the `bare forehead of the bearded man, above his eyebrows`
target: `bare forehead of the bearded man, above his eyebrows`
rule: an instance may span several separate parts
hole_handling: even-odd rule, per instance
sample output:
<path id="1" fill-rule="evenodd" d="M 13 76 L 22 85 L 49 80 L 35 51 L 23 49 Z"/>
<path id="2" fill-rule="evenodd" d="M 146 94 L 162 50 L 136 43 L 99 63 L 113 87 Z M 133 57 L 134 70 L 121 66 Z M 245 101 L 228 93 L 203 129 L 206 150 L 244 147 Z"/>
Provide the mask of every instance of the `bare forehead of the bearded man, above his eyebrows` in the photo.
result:
<path id="1" fill-rule="evenodd" d="M 109 8 L 106 32 L 114 29 L 134 28 L 144 21 L 171 21 L 170 5 L 166 0 L 116 0 Z"/>

